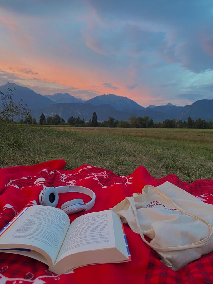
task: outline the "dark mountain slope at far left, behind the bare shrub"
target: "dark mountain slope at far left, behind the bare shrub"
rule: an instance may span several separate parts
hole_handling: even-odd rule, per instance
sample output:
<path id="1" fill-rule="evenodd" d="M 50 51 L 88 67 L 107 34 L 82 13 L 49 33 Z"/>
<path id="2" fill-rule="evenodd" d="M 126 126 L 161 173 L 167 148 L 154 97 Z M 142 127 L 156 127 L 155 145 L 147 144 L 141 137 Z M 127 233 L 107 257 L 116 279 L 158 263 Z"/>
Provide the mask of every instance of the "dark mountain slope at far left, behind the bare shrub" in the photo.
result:
<path id="1" fill-rule="evenodd" d="M 8 94 L 8 84 L 5 84 L 3 86 L 0 86 L 0 91 L 3 92 L 3 94 Z M 19 101 L 22 99 L 21 103 L 22 105 L 27 104 L 27 108 L 29 109 L 38 109 L 41 106 L 47 106 L 52 104 L 52 100 L 49 98 L 42 96 L 40 94 L 37 94 L 36 92 L 32 91 L 31 89 L 27 87 L 22 87 L 19 85 L 16 85 L 14 83 L 10 83 L 10 89 L 16 89 L 13 91 L 12 100 L 16 104 L 19 103 Z"/>

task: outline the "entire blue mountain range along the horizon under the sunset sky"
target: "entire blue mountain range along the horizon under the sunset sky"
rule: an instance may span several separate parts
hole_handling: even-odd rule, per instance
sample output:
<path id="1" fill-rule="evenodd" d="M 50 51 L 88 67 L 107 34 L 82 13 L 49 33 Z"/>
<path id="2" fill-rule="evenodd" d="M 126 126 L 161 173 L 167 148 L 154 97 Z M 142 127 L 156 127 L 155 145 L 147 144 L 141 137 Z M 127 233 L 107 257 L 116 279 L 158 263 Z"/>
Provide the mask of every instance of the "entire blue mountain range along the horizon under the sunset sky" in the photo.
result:
<path id="1" fill-rule="evenodd" d="M 4 94 L 8 93 L 8 84 L 0 86 L 0 91 Z M 206 121 L 213 120 L 213 99 L 198 100 L 192 105 L 176 106 L 171 103 L 162 106 L 150 105 L 142 107 L 135 101 L 114 94 L 104 94 L 96 96 L 89 100 L 82 100 L 71 96 L 68 93 L 57 93 L 54 95 L 41 95 L 27 87 L 17 84 L 10 84 L 13 91 L 12 100 L 16 103 L 22 100 L 22 104 L 32 110 L 32 116 L 39 119 L 41 113 L 46 117 L 60 115 L 65 120 L 70 116 L 80 116 L 88 121 L 94 111 L 98 116 L 98 121 L 107 120 L 109 116 L 115 120 L 129 120 L 130 116 L 149 116 L 154 122 L 162 122 L 168 119 L 187 120 L 189 116 L 193 120 L 197 118 Z M 0 105 L 1 108 L 1 105 Z"/>

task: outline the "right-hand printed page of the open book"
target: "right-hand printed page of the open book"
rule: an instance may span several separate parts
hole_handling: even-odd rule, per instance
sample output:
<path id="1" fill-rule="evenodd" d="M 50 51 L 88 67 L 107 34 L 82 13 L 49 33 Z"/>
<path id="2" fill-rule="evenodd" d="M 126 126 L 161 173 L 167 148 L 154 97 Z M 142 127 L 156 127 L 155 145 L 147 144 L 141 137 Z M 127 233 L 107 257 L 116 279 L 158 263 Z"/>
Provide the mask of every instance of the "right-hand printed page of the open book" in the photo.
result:
<path id="1" fill-rule="evenodd" d="M 111 210 L 76 218 L 70 225 L 56 262 L 77 252 L 115 247 Z"/>

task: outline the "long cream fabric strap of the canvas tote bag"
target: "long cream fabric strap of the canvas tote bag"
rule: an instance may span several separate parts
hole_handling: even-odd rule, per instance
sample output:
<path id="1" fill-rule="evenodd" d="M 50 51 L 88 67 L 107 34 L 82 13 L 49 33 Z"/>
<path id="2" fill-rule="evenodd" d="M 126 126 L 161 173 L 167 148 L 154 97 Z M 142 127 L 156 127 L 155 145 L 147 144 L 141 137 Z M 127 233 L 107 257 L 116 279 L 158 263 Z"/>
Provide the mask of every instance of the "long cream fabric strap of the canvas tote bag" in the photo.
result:
<path id="1" fill-rule="evenodd" d="M 175 208 L 177 208 L 180 212 L 182 212 L 183 214 L 186 214 L 188 216 L 191 216 L 191 217 L 194 217 L 194 218 L 197 218 L 201 221 L 203 221 L 205 224 L 208 225 L 208 228 L 209 228 L 209 231 L 210 231 L 210 234 L 208 237 L 206 237 L 205 239 L 202 239 L 200 241 L 197 241 L 195 243 L 190 243 L 190 244 L 185 244 L 185 245 L 177 245 L 177 246 L 172 246 L 172 247 L 162 247 L 162 246 L 158 246 L 158 245 L 153 245 L 152 243 L 149 243 L 148 241 L 146 241 L 146 239 L 144 238 L 144 234 L 142 233 L 142 230 L 140 228 L 140 225 L 139 225 L 139 220 L 138 220 L 138 217 L 137 217 L 137 213 L 136 213 L 136 207 L 135 207 L 135 203 L 133 202 L 133 198 L 130 198 L 129 201 L 130 201 L 130 204 L 132 206 L 132 209 L 133 209 L 133 212 L 134 212 L 134 215 L 135 215 L 135 220 L 136 220 L 136 223 L 137 223 L 137 228 L 140 232 L 140 236 L 142 238 L 142 240 L 147 243 L 151 248 L 153 248 L 154 250 L 156 251 L 159 251 L 159 252 L 170 252 L 170 251 L 178 251 L 178 250 L 184 250 L 184 249 L 190 249 L 190 248 L 200 248 L 204 245 L 207 245 L 208 243 L 210 243 L 211 239 L 212 239 L 212 234 L 213 234 L 213 228 L 212 228 L 212 225 L 205 219 L 203 219 L 202 217 L 199 217 L 195 214 L 192 214 L 190 212 L 186 212 L 185 210 L 183 210 L 182 208 L 180 208 L 177 204 L 175 204 L 169 197 L 168 195 L 166 195 L 166 193 L 162 192 L 161 190 L 159 190 L 158 188 L 152 186 L 152 185 L 146 185 L 144 187 L 145 188 L 152 188 L 156 193 L 158 193 L 159 195 L 161 195 L 162 197 L 164 197 L 167 201 L 169 201 L 173 206 L 175 206 Z M 143 193 L 144 194 L 144 193 Z"/>

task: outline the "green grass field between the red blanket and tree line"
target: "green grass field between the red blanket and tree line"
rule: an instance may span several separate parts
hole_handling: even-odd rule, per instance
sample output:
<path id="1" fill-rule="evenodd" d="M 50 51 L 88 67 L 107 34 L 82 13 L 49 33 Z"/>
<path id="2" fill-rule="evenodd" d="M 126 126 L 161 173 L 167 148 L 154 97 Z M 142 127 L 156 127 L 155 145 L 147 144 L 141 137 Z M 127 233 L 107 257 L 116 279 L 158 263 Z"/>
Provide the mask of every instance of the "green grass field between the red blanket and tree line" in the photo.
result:
<path id="1" fill-rule="evenodd" d="M 144 166 L 156 178 L 213 179 L 213 129 L 11 125 L 0 133 L 0 167 L 63 158 L 67 169 L 90 164 L 127 175 Z"/>

